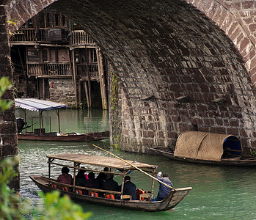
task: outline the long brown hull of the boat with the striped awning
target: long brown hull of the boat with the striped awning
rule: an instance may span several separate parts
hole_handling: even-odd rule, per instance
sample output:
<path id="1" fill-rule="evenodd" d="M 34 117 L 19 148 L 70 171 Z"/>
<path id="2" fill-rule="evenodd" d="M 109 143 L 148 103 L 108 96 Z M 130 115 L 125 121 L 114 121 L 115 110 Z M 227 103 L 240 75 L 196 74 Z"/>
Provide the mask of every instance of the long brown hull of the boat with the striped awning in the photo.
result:
<path id="1" fill-rule="evenodd" d="M 54 142 L 92 142 L 103 139 L 109 139 L 109 131 L 95 132 L 95 133 L 81 133 L 81 134 L 67 134 L 60 136 L 34 135 L 18 133 L 19 140 L 33 140 L 33 141 L 54 141 Z"/>

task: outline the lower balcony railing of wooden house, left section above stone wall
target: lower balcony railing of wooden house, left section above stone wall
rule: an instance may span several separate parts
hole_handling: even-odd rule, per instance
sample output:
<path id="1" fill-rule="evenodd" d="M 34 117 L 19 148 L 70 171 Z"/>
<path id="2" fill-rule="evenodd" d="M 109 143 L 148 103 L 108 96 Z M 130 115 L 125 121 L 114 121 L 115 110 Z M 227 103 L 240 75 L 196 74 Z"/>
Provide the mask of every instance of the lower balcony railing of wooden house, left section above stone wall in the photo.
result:
<path id="1" fill-rule="evenodd" d="M 71 76 L 69 64 L 28 64 L 29 76 Z"/>

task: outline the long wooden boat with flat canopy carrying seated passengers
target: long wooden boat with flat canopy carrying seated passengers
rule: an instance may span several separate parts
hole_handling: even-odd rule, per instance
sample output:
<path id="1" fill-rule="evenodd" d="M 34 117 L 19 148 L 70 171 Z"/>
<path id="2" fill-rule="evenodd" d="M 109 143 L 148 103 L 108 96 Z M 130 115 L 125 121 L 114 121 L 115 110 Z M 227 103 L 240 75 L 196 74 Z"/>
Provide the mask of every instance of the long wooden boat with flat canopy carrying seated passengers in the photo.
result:
<path id="1" fill-rule="evenodd" d="M 180 203 L 180 201 L 186 197 L 186 195 L 191 191 L 191 187 L 187 188 L 173 188 L 168 196 L 162 200 L 153 202 L 150 197 L 153 197 L 153 186 L 154 179 L 152 180 L 152 187 L 149 191 L 138 190 L 137 199 L 131 200 L 130 195 L 122 194 L 124 186 L 124 177 L 128 172 L 138 169 L 144 169 L 145 172 L 156 173 L 158 166 L 150 164 L 142 164 L 136 161 L 120 161 L 118 158 L 103 157 L 96 155 L 81 155 L 81 154 L 71 154 L 71 153 L 62 153 L 56 155 L 47 155 L 48 157 L 48 177 L 43 176 L 30 176 L 34 183 L 44 192 L 59 190 L 61 194 L 68 195 L 71 199 L 83 201 L 83 202 L 93 202 L 99 205 L 108 205 L 111 207 L 125 208 L 132 210 L 143 210 L 143 211 L 164 211 L 174 208 Z M 54 161 L 57 160 L 58 163 Z M 60 164 L 59 161 L 65 161 L 64 164 Z M 67 165 L 67 162 L 70 165 Z M 133 166 L 131 166 L 132 164 Z M 56 179 L 51 178 L 51 166 L 67 166 L 70 169 L 73 169 L 73 185 L 67 185 L 62 183 L 57 183 Z M 98 188 L 87 188 L 75 186 L 76 172 L 78 169 L 82 169 L 81 166 L 93 165 L 97 169 L 86 169 L 88 172 L 103 172 L 103 167 L 109 167 L 109 172 L 103 172 L 111 175 L 120 175 L 122 177 L 122 185 L 120 191 L 106 191 Z M 134 168 L 136 167 L 136 168 Z M 156 177 L 154 177 L 156 179 Z M 55 186 L 54 186 L 54 185 Z M 54 186 L 54 187 L 53 187 Z M 55 188 L 56 187 L 56 188 Z M 63 189 L 59 189 L 65 187 Z M 68 188 L 68 190 L 67 190 Z M 65 190 L 66 189 L 66 190 Z M 77 190 L 87 190 L 89 194 L 78 194 L 75 191 Z M 139 194 L 139 191 L 141 192 Z M 144 192 L 144 193 L 143 193 Z M 97 196 L 98 193 L 103 194 L 102 197 Z M 113 195 L 108 197 L 107 195 Z M 111 199 L 112 198 L 112 199 Z M 115 198 L 115 199 L 114 199 Z M 128 198 L 128 200 L 125 200 Z"/>

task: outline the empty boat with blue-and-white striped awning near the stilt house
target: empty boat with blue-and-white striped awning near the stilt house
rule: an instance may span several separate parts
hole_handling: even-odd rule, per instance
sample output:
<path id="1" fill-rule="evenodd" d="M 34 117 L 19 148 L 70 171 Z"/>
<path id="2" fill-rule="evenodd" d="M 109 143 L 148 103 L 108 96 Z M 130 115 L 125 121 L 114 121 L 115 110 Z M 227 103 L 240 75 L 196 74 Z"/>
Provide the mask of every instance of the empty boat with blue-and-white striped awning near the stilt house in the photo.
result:
<path id="1" fill-rule="evenodd" d="M 59 123 L 59 109 L 67 109 L 67 106 L 61 103 L 54 103 L 48 100 L 37 100 L 34 98 L 15 98 L 16 108 L 21 108 L 24 112 L 23 118 L 17 118 L 18 139 L 34 141 L 61 141 L 61 142 L 90 142 L 103 139 L 109 139 L 109 131 L 91 132 L 91 133 L 62 133 Z M 27 125 L 26 110 L 39 111 L 39 117 L 32 117 L 32 125 Z M 55 110 L 58 118 L 59 133 L 51 132 L 51 117 L 43 117 L 43 111 Z M 43 118 L 49 120 L 48 132 L 43 126 Z M 39 128 L 34 128 L 34 121 L 39 120 Z M 32 127 L 32 131 L 27 128 Z M 23 133 L 23 130 L 25 132 Z"/>

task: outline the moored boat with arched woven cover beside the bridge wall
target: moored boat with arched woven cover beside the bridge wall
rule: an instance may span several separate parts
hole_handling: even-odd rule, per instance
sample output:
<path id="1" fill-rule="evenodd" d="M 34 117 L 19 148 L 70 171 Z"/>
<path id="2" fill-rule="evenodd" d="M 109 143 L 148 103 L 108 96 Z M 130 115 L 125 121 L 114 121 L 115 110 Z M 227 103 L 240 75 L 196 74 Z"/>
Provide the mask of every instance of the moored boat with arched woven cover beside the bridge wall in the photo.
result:
<path id="1" fill-rule="evenodd" d="M 241 156 L 238 137 L 221 133 L 186 131 L 178 136 L 175 150 L 169 147 L 150 148 L 158 155 L 176 161 L 221 166 L 256 166 L 256 158 Z"/>

